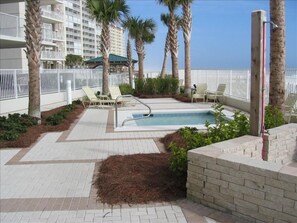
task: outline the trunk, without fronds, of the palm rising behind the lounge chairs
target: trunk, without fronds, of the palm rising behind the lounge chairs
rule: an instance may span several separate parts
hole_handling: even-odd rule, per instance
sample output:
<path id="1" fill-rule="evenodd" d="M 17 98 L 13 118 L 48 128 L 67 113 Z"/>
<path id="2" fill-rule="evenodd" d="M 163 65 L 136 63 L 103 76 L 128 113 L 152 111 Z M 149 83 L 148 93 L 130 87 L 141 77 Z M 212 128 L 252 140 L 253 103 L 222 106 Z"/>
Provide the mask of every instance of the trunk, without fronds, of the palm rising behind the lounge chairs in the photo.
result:
<path id="1" fill-rule="evenodd" d="M 109 24 L 102 24 L 101 31 L 101 53 L 103 57 L 103 80 L 102 80 L 102 92 L 103 94 L 108 94 L 109 89 L 109 51 L 110 51 L 110 34 L 109 34 Z"/>

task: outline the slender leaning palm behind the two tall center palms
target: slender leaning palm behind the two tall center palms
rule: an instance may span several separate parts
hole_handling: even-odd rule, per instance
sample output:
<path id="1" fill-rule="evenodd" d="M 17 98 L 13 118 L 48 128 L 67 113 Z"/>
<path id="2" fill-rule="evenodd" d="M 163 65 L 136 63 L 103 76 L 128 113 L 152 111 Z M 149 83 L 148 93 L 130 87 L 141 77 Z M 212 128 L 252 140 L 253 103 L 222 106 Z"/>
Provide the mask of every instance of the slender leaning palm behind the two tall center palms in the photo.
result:
<path id="1" fill-rule="evenodd" d="M 161 70 L 161 74 L 160 76 L 162 78 L 165 78 L 166 75 L 166 66 L 167 66 L 167 57 L 168 57 L 168 53 L 170 50 L 170 33 L 169 33 L 169 14 L 168 13 L 162 13 L 161 17 L 160 17 L 161 21 L 163 22 L 163 24 L 165 26 L 168 27 L 168 32 L 166 35 L 166 40 L 165 40 L 165 47 L 164 47 L 164 59 L 163 59 L 163 65 L 162 65 L 162 70 Z M 180 16 L 175 15 L 175 20 L 177 23 L 177 29 L 180 29 L 181 27 L 181 22 L 182 22 L 182 18 Z"/>

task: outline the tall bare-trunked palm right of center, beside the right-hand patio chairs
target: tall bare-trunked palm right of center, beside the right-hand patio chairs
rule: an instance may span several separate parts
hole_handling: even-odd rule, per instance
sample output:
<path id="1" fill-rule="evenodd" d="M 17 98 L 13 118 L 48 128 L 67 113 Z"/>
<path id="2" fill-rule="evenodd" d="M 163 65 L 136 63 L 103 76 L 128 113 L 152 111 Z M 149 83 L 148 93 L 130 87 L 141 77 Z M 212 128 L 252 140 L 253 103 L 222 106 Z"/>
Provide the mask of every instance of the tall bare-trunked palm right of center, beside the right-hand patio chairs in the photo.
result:
<path id="1" fill-rule="evenodd" d="M 191 3 L 193 0 L 180 0 L 183 9 L 183 35 L 185 43 L 185 93 L 191 95 L 191 33 L 192 33 L 192 10 Z"/>

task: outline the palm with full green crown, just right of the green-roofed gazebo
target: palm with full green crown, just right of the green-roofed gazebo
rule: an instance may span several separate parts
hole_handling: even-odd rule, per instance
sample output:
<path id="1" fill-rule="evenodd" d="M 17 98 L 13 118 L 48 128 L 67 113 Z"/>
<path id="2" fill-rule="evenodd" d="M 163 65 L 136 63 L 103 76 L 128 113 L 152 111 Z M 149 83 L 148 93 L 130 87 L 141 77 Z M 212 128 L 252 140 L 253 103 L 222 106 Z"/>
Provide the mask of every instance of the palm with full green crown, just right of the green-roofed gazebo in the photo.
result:
<path id="1" fill-rule="evenodd" d="M 135 40 L 138 56 L 138 77 L 143 79 L 144 44 L 154 41 L 156 23 L 152 19 L 143 20 L 139 17 L 129 17 L 124 22 L 124 27 L 128 29 L 131 38 Z"/>

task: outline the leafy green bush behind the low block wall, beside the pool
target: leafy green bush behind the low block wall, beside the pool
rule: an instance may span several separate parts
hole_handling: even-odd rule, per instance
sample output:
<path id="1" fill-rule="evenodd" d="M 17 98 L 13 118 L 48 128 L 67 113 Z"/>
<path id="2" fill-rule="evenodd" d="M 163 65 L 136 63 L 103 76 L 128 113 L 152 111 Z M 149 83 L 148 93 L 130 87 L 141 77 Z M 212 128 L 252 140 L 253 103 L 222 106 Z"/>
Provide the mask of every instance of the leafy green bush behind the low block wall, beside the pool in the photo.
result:
<path id="1" fill-rule="evenodd" d="M 184 158 L 184 155 L 186 156 L 188 150 L 248 134 L 250 129 L 249 120 L 244 114 L 236 111 L 234 119 L 228 121 L 225 119 L 222 105 L 215 104 L 213 108 L 215 125 L 211 126 L 209 123 L 205 123 L 206 132 L 199 132 L 198 129 L 189 127 L 178 130 L 187 146 L 186 148 L 179 148 L 174 142 L 169 146 L 169 149 L 172 151 L 170 166 L 175 175 L 181 176 L 186 174 L 187 158 Z M 181 151 L 178 152 L 178 150 Z"/>

